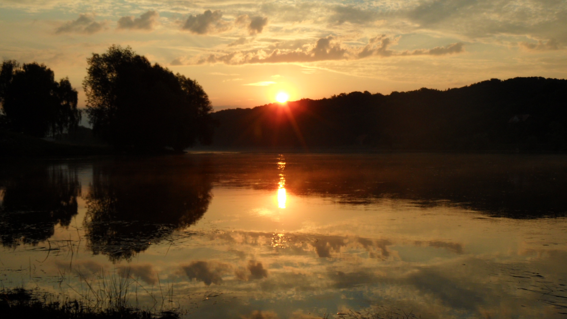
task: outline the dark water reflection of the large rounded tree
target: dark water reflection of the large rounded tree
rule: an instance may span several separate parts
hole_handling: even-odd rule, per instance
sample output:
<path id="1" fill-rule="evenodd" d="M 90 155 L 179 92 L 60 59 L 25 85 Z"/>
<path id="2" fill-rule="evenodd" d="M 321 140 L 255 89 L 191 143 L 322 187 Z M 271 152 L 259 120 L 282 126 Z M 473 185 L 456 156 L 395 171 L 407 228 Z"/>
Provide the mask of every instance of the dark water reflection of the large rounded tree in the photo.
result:
<path id="1" fill-rule="evenodd" d="M 129 260 L 195 223 L 212 198 L 202 167 L 175 157 L 96 163 L 84 219 L 88 248 Z"/>

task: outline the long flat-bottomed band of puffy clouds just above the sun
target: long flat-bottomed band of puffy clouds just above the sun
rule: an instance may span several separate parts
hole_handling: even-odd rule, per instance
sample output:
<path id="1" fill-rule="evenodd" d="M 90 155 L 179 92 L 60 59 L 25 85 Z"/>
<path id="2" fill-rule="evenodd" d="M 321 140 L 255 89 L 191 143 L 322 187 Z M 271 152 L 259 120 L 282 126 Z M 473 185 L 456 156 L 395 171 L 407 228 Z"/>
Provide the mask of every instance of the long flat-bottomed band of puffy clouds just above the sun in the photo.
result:
<path id="1" fill-rule="evenodd" d="M 202 57 L 197 64 L 225 63 L 230 65 L 258 64 L 258 63 L 293 63 L 293 62 L 316 62 L 328 60 L 358 60 L 370 56 L 417 56 L 432 55 L 441 56 L 445 54 L 463 52 L 463 43 L 453 43 L 445 47 L 433 49 L 417 49 L 414 51 L 396 51 L 390 49 L 397 44 L 400 37 L 390 38 L 380 35 L 369 39 L 363 47 L 352 47 L 342 44 L 341 40 L 329 35 L 318 39 L 314 44 L 302 45 L 280 49 L 285 45 L 276 45 L 273 49 L 259 49 L 251 51 L 235 51 L 225 54 L 210 54 Z M 262 83 L 262 82 L 259 82 Z M 251 85 L 253 85 L 251 83 Z"/>

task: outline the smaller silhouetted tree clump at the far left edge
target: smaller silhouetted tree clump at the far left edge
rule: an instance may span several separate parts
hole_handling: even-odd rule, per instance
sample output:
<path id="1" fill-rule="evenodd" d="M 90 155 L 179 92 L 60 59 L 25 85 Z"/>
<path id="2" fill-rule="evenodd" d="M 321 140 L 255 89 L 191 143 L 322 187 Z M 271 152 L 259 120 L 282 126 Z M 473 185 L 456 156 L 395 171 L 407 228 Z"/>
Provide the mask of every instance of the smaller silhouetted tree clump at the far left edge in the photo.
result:
<path id="1" fill-rule="evenodd" d="M 0 102 L 5 125 L 15 132 L 36 137 L 60 135 L 77 128 L 77 91 L 68 78 L 54 80 L 43 64 L 4 61 L 0 71 Z"/>

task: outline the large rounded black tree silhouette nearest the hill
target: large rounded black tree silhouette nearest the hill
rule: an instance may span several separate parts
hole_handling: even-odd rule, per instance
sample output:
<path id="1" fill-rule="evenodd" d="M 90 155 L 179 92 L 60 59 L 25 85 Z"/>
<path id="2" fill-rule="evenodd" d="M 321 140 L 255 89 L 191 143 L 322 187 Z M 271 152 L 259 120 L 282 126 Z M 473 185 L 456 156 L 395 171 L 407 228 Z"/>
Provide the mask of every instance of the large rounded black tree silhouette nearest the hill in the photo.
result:
<path id="1" fill-rule="evenodd" d="M 183 150 L 210 141 L 213 110 L 192 79 L 113 45 L 88 58 L 84 89 L 95 135 L 120 148 Z"/>

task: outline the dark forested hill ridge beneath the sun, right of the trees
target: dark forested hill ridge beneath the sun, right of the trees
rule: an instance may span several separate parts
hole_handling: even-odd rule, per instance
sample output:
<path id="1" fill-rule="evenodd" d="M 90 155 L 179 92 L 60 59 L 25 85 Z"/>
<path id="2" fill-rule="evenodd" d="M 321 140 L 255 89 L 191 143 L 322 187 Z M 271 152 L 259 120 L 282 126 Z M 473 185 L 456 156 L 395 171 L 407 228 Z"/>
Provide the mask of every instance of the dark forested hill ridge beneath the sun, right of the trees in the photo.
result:
<path id="1" fill-rule="evenodd" d="M 213 117 L 217 148 L 565 150 L 567 80 L 490 79 L 445 91 L 341 93 Z"/>

